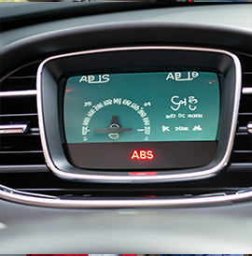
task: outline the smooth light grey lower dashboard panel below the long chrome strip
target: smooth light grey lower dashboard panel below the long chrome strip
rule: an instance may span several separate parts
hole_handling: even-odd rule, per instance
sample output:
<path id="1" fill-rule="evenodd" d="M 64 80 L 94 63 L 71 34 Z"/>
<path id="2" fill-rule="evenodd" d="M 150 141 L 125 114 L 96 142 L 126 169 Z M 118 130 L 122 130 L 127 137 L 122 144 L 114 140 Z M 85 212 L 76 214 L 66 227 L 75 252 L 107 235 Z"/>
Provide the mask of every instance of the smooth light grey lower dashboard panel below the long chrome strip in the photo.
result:
<path id="1" fill-rule="evenodd" d="M 183 209 L 52 209 L 6 201 L 0 206 L 6 225 L 0 233 L 1 253 L 251 252 L 249 202 Z M 186 250 L 179 248 L 181 242 Z"/>

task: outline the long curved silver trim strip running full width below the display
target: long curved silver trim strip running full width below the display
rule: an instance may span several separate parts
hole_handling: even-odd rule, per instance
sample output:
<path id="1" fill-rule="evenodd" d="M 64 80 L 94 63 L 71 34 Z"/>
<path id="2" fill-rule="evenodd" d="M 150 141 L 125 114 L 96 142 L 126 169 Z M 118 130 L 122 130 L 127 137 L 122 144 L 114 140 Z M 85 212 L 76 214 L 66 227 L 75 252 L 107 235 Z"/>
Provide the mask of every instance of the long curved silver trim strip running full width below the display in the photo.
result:
<path id="1" fill-rule="evenodd" d="M 243 200 L 251 200 L 252 191 L 236 192 L 229 195 L 199 196 L 192 198 L 179 199 L 115 199 L 115 200 L 69 200 L 69 199 L 50 199 L 36 196 L 23 195 L 0 189 L 0 198 L 15 203 L 29 206 L 46 206 L 57 208 L 122 208 L 122 207 L 179 207 L 179 206 L 203 206 L 213 204 L 225 204 Z M 41 196 L 41 195 L 40 195 Z"/>

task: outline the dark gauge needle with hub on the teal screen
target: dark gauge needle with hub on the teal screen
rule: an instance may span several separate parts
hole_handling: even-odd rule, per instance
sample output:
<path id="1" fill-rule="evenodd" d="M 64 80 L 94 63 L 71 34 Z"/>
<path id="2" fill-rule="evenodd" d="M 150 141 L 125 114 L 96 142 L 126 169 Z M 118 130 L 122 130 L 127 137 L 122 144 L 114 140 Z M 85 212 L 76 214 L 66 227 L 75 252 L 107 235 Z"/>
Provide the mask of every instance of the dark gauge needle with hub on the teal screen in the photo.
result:
<path id="1" fill-rule="evenodd" d="M 132 131 L 132 128 L 121 128 L 117 116 L 113 116 L 108 128 L 93 129 L 93 133 L 106 133 L 111 139 L 118 139 L 121 132 Z"/>

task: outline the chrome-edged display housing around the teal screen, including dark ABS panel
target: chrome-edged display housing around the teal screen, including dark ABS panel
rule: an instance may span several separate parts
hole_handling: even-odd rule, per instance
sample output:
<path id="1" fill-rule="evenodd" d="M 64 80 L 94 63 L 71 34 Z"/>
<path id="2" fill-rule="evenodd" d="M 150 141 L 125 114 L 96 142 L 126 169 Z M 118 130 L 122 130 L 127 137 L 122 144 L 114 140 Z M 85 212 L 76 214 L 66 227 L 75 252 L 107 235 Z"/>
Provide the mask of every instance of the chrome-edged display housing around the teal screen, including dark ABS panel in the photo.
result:
<path id="1" fill-rule="evenodd" d="M 71 149 L 72 151 L 68 148 L 71 158 L 75 159 L 74 163 L 83 163 L 86 167 L 84 170 L 69 164 L 65 156 L 67 153 L 63 152 L 63 144 L 66 143 L 63 138 L 62 121 L 64 78 L 69 78 L 73 76 L 72 74 L 81 74 L 81 72 L 107 74 L 120 72 L 120 70 L 124 72 L 195 70 L 217 73 L 221 92 L 217 154 L 215 143 L 213 145 L 207 141 L 172 144 L 132 142 L 101 145 L 94 143 L 88 144 L 88 148 L 85 144 L 80 144 L 81 149 L 80 146 L 77 149 Z M 37 72 L 37 92 L 42 145 L 49 169 L 56 175 L 82 181 L 106 182 L 178 181 L 206 178 L 215 175 L 228 164 L 240 100 L 241 65 L 235 55 L 223 50 L 159 46 L 88 50 L 53 56 L 40 64 Z M 134 164 L 124 158 L 123 155 L 129 149 L 143 148 L 146 144 L 147 148 L 154 148 L 160 155 L 160 159 L 155 159 L 153 164 L 139 162 Z M 81 162 L 76 157 L 78 150 L 83 154 Z M 87 155 L 86 158 L 85 155 Z M 97 157 L 99 157 L 99 163 L 97 163 Z M 167 163 L 169 158 L 173 159 L 170 164 Z M 205 166 L 192 168 L 201 165 Z M 175 171 L 178 167 L 180 170 Z M 123 169 L 126 169 L 126 172 L 123 172 Z M 142 172 L 152 169 L 155 175 L 131 175 L 133 169 Z"/>

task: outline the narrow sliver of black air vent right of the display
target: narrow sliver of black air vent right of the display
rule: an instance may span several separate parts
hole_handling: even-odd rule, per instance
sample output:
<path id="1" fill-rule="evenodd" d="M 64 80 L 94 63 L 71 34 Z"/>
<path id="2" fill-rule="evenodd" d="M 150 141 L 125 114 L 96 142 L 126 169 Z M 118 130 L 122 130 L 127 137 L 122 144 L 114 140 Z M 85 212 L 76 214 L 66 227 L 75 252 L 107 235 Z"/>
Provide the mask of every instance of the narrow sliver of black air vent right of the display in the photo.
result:
<path id="1" fill-rule="evenodd" d="M 243 91 L 239 109 L 231 169 L 252 172 L 252 58 L 243 56 Z M 249 128 L 251 127 L 251 128 Z"/>

